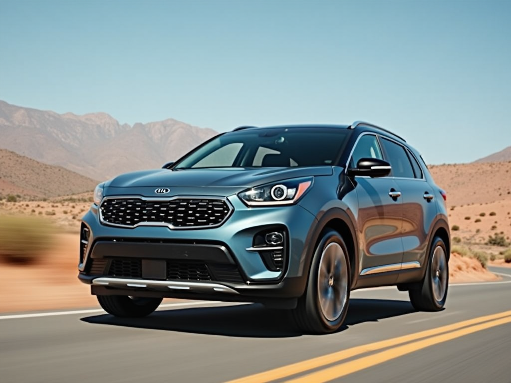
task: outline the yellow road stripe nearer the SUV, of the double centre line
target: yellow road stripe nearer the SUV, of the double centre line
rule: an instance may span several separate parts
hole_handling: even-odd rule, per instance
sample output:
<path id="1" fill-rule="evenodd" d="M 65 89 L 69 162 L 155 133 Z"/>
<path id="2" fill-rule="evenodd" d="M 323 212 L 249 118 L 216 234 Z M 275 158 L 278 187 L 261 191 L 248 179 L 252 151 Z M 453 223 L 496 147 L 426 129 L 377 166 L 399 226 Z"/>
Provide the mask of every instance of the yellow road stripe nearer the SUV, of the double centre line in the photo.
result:
<path id="1" fill-rule="evenodd" d="M 397 337 L 397 338 L 392 338 L 392 339 L 388 339 L 388 340 L 384 340 L 384 341 L 369 343 L 369 344 L 362 345 L 362 346 L 356 346 L 356 347 L 349 348 L 346 350 L 333 352 L 331 354 L 318 356 L 318 357 L 315 357 L 315 358 L 312 358 L 312 359 L 309 359 L 306 361 L 293 363 L 293 364 L 283 366 L 283 367 L 278 367 L 278 368 L 268 370 L 265 372 L 261 372 L 258 374 L 245 376 L 245 377 L 242 377 L 239 379 L 229 380 L 226 383 L 265 383 L 265 382 L 269 382 L 269 381 L 276 380 L 276 379 L 282 379 L 282 378 L 289 377 L 289 376 L 299 374 L 302 372 L 306 372 L 306 371 L 309 371 L 309 370 L 312 370 L 312 369 L 315 369 L 318 367 L 326 366 L 326 365 L 329 365 L 329 364 L 332 364 L 335 362 L 340 362 L 342 360 L 345 360 L 347 358 L 350 358 L 350 357 L 353 357 L 356 355 L 363 354 L 365 352 L 378 351 L 383 348 L 398 346 L 398 345 L 406 343 L 406 342 L 411 342 L 411 341 L 416 341 L 421 338 L 436 336 L 436 335 L 444 333 L 444 332 L 454 331 L 459 328 L 495 320 L 498 318 L 507 317 L 510 315 L 511 315 L 511 310 L 503 312 L 503 313 L 486 315 L 483 317 L 469 319 L 466 321 L 450 324 L 447 326 L 437 327 L 437 328 L 430 329 L 430 330 L 415 332 L 415 333 Z"/>

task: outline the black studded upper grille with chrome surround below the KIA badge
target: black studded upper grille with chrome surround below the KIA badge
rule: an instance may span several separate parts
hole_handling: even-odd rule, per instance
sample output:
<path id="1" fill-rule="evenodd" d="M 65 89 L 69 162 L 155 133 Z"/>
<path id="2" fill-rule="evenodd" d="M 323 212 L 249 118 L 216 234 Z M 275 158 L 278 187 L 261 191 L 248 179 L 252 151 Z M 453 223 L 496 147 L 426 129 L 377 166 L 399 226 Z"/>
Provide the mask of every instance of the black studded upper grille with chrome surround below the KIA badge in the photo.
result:
<path id="1" fill-rule="evenodd" d="M 231 208 L 225 200 L 213 198 L 107 198 L 100 211 L 101 221 L 110 225 L 134 227 L 147 223 L 172 228 L 198 228 L 221 225 Z"/>

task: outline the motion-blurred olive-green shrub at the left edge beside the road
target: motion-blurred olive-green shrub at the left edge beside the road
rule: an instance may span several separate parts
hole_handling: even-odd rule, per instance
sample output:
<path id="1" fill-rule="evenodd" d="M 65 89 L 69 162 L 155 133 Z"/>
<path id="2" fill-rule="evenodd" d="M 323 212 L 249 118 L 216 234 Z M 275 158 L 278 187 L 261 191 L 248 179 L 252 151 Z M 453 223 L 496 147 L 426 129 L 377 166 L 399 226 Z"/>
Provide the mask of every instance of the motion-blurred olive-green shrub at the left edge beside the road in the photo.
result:
<path id="1" fill-rule="evenodd" d="M 53 243 L 54 228 L 28 216 L 0 216 L 0 261 L 34 264 Z"/>

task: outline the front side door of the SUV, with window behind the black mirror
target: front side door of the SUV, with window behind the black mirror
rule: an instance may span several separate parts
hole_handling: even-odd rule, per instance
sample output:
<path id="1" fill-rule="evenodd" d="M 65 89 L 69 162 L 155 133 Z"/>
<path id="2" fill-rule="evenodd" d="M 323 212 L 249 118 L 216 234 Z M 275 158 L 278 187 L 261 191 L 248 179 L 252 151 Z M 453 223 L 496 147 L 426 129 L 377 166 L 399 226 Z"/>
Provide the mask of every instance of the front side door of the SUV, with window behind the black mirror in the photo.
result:
<path id="1" fill-rule="evenodd" d="M 376 134 L 365 133 L 359 137 L 349 166 L 356 167 L 360 158 L 383 159 Z M 358 198 L 360 275 L 357 285 L 395 283 L 403 258 L 399 186 L 392 177 L 355 176 L 351 180 Z"/>

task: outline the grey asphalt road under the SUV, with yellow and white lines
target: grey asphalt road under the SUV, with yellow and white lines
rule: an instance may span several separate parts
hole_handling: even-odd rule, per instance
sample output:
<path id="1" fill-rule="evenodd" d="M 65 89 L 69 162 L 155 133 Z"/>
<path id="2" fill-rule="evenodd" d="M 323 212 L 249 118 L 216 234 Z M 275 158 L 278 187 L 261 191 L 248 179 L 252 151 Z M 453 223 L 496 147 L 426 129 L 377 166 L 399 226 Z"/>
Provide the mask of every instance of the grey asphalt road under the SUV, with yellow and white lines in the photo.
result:
<path id="1" fill-rule="evenodd" d="M 451 285 L 438 313 L 395 288 L 356 291 L 345 326 L 324 336 L 256 304 L 190 303 L 136 320 L 0 315 L 0 381 L 511 383 L 511 276 Z"/>

